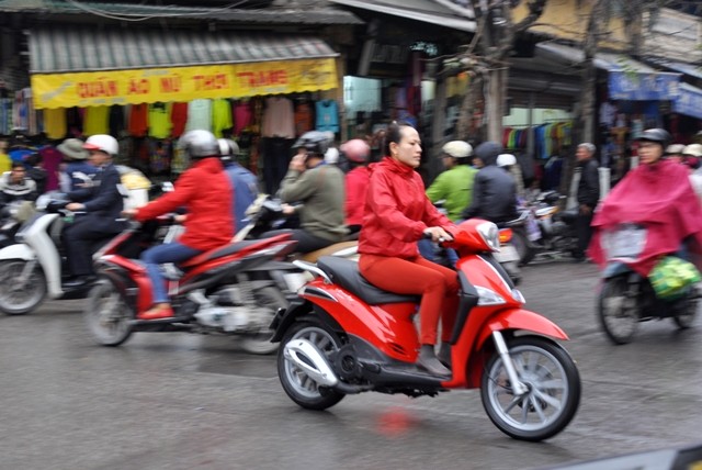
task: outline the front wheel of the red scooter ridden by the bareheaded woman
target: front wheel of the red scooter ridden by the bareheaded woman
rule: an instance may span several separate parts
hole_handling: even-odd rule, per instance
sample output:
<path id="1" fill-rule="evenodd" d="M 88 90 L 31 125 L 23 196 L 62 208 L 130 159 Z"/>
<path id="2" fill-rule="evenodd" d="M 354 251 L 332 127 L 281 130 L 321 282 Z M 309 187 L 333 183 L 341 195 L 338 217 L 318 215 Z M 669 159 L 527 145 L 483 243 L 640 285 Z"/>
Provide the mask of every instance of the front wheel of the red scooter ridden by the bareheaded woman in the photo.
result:
<path id="1" fill-rule="evenodd" d="M 540 336 L 507 342 L 519 380 L 526 387 L 514 395 L 507 368 L 495 352 L 482 379 L 480 396 L 490 421 L 516 439 L 539 441 L 555 436 L 580 404 L 580 374 L 568 352 Z"/>

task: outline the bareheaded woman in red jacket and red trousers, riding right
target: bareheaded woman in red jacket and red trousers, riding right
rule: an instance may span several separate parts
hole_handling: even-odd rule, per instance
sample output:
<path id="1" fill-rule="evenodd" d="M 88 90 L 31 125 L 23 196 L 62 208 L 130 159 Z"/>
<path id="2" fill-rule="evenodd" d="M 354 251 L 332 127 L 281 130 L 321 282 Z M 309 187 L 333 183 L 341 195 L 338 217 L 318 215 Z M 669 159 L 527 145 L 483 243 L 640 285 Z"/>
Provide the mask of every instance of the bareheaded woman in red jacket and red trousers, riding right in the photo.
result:
<path id="1" fill-rule="evenodd" d="M 424 259 L 417 242 L 451 239 L 455 225 L 427 198 L 415 168 L 420 164 L 421 141 L 408 124 L 393 123 L 386 134 L 382 161 L 371 165 L 363 226 L 359 237 L 361 273 L 381 289 L 421 294 L 418 363 L 434 376 L 450 376 L 450 345 L 457 309 L 456 272 Z M 441 317 L 442 344 L 434 351 Z"/>

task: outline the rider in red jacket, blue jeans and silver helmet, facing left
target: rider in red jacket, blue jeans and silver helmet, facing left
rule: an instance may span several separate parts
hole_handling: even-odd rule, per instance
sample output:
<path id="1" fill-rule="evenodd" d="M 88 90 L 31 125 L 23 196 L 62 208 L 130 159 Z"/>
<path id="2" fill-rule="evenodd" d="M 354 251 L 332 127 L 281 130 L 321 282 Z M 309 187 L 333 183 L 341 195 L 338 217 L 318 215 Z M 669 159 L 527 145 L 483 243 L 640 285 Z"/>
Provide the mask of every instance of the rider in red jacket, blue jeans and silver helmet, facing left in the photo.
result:
<path id="1" fill-rule="evenodd" d="M 234 236 L 231 184 L 219 159 L 217 138 L 207 131 L 190 131 L 179 145 L 193 163 L 176 182 L 174 191 L 140 209 L 124 211 L 126 216 L 139 222 L 181 206 L 188 211 L 185 232 L 178 242 L 157 245 L 141 254 L 154 289 L 154 306 L 140 314 L 140 320 L 173 316 L 159 264 L 184 261 L 226 245 Z"/>

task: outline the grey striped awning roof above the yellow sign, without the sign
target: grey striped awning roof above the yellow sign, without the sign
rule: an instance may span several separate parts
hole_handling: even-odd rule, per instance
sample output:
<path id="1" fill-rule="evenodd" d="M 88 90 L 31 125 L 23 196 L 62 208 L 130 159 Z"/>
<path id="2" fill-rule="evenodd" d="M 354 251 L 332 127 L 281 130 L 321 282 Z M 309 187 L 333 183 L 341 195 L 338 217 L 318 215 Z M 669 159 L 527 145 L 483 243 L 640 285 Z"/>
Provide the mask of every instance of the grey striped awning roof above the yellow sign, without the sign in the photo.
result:
<path id="1" fill-rule="evenodd" d="M 30 72 L 126 70 L 337 57 L 314 36 L 160 30 L 33 30 Z"/>

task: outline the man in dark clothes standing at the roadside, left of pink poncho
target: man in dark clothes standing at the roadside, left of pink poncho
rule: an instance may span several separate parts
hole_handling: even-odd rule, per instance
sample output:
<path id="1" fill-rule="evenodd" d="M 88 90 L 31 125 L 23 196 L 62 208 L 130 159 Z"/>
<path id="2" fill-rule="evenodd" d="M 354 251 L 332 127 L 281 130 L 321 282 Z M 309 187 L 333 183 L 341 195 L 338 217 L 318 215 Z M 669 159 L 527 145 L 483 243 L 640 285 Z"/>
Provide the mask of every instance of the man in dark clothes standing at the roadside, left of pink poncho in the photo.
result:
<path id="1" fill-rule="evenodd" d="M 578 248 L 574 253 L 575 261 L 585 261 L 585 250 L 592 236 L 592 212 L 600 200 L 600 176 L 595 157 L 597 147 L 590 143 L 578 145 L 575 154 L 577 159 L 576 171 L 580 174 L 578 181 L 578 216 L 576 219 L 576 232 L 578 235 Z"/>

